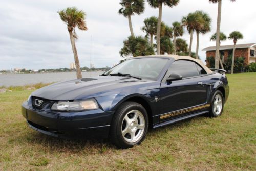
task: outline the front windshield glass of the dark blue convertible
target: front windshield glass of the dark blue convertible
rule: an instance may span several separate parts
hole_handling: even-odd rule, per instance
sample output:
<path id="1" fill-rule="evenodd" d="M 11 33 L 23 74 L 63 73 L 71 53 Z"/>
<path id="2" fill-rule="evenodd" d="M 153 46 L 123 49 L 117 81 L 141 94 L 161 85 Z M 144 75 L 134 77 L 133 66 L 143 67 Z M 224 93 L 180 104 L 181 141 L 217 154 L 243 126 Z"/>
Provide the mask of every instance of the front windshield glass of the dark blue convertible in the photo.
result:
<path id="1" fill-rule="evenodd" d="M 140 78 L 156 79 L 167 61 L 163 58 L 129 59 L 106 71 L 104 75 L 121 73 Z"/>

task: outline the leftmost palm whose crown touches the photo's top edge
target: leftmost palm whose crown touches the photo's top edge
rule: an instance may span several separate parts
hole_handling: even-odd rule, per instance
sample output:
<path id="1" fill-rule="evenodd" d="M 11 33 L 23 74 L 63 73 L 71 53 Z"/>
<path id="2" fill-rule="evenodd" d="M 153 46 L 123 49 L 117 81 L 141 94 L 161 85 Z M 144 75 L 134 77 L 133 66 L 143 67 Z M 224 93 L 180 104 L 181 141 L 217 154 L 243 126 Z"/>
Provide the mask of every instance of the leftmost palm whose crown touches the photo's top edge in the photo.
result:
<path id="1" fill-rule="evenodd" d="M 144 12 L 144 0 L 121 0 L 119 4 L 122 8 L 119 9 L 118 13 L 128 18 L 131 35 L 134 36 L 131 16 L 140 15 Z"/>

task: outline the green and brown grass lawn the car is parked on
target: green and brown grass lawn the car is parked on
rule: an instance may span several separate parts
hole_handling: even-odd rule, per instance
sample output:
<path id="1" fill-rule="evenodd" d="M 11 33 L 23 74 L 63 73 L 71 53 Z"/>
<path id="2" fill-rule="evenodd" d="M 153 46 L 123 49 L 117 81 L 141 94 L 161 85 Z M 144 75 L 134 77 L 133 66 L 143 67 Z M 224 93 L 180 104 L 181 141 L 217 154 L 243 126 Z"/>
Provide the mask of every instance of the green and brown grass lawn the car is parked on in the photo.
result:
<path id="1" fill-rule="evenodd" d="M 256 170 L 256 73 L 228 75 L 221 117 L 150 130 L 120 150 L 108 140 L 62 140 L 26 125 L 20 104 L 33 90 L 0 94 L 0 170 Z"/>

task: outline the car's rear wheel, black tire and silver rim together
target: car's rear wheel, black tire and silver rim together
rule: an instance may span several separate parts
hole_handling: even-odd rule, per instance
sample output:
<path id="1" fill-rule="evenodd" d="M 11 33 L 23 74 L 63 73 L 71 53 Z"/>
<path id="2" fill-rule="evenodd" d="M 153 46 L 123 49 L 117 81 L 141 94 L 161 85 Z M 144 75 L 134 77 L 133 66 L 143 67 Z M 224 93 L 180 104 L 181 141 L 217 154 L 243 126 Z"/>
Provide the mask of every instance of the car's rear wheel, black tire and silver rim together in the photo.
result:
<path id="1" fill-rule="evenodd" d="M 209 116 L 219 117 L 222 114 L 224 107 L 224 97 L 221 91 L 217 90 L 214 95 L 212 95 Z"/>

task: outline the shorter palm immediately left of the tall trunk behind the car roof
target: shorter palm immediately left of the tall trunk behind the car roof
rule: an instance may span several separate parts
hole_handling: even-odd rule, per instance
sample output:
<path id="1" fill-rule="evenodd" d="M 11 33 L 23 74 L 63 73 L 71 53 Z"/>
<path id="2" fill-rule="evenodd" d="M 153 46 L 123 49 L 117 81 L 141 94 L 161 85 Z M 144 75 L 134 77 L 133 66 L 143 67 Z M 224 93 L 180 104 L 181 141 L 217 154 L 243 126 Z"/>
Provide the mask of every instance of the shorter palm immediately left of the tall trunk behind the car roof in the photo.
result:
<path id="1" fill-rule="evenodd" d="M 157 17 L 152 16 L 144 20 L 144 26 L 141 28 L 146 32 L 146 36 L 150 35 L 150 45 L 153 47 L 153 35 L 157 34 Z"/>

